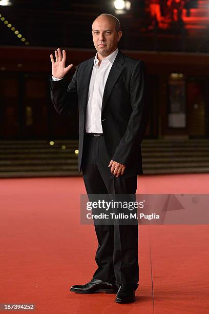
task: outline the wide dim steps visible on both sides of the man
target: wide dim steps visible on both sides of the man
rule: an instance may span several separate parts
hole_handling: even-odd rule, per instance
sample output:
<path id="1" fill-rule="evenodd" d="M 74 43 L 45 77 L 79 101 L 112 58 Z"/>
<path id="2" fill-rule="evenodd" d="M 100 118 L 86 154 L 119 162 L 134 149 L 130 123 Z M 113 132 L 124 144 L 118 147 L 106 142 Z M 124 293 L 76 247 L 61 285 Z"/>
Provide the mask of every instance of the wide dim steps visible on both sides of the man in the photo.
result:
<path id="1" fill-rule="evenodd" d="M 78 141 L 0 141 L 0 178 L 78 175 Z M 144 174 L 209 172 L 209 140 L 144 140 Z"/>

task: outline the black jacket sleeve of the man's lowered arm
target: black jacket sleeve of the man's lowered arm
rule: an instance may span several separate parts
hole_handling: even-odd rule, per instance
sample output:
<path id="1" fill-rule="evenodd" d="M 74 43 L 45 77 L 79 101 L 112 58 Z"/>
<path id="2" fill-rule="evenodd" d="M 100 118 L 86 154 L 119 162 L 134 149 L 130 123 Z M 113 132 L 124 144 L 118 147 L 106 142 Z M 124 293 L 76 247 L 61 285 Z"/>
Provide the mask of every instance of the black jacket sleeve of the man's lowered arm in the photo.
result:
<path id="1" fill-rule="evenodd" d="M 147 69 L 143 61 L 139 61 L 131 76 L 130 102 L 132 112 L 127 130 L 117 146 L 112 160 L 127 165 L 130 156 L 143 140 L 150 116 L 150 100 L 148 91 Z"/>

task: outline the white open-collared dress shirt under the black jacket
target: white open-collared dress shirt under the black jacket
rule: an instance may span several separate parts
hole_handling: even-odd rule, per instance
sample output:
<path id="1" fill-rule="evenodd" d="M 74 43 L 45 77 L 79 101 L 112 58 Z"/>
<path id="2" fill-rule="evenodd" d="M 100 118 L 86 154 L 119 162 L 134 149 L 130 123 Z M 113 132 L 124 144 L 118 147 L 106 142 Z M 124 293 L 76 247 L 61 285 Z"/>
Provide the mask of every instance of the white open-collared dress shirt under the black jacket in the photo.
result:
<path id="1" fill-rule="evenodd" d="M 88 92 L 86 116 L 87 133 L 103 133 L 101 126 L 101 105 L 103 92 L 117 53 L 118 48 L 106 58 L 103 58 L 100 66 L 98 66 L 99 60 L 97 59 L 97 53 L 94 58 L 94 66 L 91 74 Z M 52 77 L 52 81 L 58 81 L 58 78 Z"/>

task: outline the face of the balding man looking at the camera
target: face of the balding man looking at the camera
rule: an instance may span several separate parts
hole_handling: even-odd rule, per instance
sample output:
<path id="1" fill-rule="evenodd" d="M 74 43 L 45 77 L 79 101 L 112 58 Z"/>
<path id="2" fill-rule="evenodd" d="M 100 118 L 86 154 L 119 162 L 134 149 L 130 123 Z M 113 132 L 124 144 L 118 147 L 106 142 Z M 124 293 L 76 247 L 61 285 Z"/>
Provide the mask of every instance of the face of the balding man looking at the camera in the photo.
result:
<path id="1" fill-rule="evenodd" d="M 122 32 L 117 32 L 115 23 L 106 16 L 99 16 L 92 24 L 94 47 L 102 56 L 108 56 L 117 47 Z"/>

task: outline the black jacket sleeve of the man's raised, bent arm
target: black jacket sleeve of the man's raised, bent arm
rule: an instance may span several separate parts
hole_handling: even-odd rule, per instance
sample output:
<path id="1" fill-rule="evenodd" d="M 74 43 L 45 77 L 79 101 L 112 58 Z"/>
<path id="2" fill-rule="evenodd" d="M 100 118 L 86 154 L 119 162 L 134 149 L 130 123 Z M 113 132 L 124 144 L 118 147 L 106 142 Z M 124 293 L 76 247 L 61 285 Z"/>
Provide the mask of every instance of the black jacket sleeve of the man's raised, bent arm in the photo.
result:
<path id="1" fill-rule="evenodd" d="M 59 114 L 69 114 L 71 109 L 78 104 L 77 96 L 77 72 L 79 65 L 73 75 L 72 81 L 68 85 L 66 78 L 59 81 L 52 81 L 50 76 L 49 84 L 51 90 L 51 100 Z"/>

